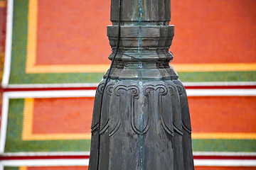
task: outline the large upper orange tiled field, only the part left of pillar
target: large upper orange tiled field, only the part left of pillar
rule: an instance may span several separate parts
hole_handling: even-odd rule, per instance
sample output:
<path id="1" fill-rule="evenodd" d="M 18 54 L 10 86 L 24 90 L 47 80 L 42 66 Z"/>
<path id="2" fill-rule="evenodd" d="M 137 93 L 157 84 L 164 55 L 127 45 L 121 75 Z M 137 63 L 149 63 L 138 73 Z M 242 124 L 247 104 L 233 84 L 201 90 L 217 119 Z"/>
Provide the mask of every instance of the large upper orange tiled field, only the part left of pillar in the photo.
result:
<path id="1" fill-rule="evenodd" d="M 110 1 L 38 0 L 36 64 L 106 64 Z"/>

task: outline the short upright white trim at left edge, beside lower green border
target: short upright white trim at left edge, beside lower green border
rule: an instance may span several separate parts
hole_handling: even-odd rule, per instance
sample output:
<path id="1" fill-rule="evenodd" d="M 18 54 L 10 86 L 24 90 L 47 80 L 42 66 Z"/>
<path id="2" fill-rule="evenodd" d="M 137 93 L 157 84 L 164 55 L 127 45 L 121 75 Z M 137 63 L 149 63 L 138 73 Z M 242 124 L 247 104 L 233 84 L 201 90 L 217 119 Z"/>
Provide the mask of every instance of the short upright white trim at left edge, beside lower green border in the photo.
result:
<path id="1" fill-rule="evenodd" d="M 1 133 L 0 133 L 0 154 L 4 153 L 6 142 L 6 130 L 8 121 L 9 97 L 3 94 L 2 113 L 1 113 Z"/>

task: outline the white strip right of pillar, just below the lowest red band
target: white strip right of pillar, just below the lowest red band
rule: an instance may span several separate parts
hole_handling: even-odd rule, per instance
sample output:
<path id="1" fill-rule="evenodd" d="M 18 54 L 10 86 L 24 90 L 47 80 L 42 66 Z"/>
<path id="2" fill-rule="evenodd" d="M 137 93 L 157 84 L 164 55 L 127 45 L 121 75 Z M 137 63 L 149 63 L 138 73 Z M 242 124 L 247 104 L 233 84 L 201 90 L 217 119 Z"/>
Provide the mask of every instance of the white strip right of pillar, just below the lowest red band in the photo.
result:
<path id="1" fill-rule="evenodd" d="M 256 160 L 194 159 L 195 166 L 256 166 Z"/>

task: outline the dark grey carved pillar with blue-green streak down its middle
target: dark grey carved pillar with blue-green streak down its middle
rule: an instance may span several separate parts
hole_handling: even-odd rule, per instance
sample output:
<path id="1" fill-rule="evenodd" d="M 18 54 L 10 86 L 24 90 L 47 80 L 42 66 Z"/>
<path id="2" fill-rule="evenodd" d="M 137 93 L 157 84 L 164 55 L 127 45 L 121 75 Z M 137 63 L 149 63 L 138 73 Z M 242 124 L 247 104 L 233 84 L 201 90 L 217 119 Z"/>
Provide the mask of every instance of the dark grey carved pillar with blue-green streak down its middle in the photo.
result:
<path id="1" fill-rule="evenodd" d="M 171 2 L 121 2 L 117 42 L 119 0 L 111 1 L 107 35 L 112 50 L 117 43 L 119 50 L 103 95 L 106 76 L 97 87 L 89 169 L 194 169 L 188 99 L 169 66 Z"/>

